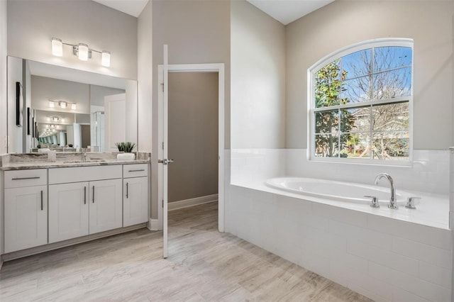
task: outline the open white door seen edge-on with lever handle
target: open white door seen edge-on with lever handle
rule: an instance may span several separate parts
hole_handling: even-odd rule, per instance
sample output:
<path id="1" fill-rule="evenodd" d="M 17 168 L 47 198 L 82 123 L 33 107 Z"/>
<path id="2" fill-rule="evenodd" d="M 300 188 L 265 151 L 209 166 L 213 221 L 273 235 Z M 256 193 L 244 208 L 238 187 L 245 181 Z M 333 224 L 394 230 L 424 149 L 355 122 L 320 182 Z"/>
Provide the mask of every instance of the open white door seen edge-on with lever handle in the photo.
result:
<path id="1" fill-rule="evenodd" d="M 167 133 L 168 133 L 168 121 L 167 121 L 167 112 L 168 112 L 168 74 L 169 74 L 169 67 L 168 67 L 168 57 L 167 57 L 167 45 L 164 45 L 164 65 L 162 68 L 162 82 L 160 81 L 160 93 L 162 93 L 162 102 L 158 102 L 158 111 L 160 112 L 160 118 L 162 118 L 162 132 L 159 133 L 159 142 L 162 145 L 161 148 L 158 148 L 158 174 L 162 175 L 162 177 L 158 177 L 157 186 L 160 190 L 160 194 L 158 196 L 162 196 L 162 257 L 167 258 L 167 234 L 168 234 L 168 225 L 167 225 L 167 166 L 173 160 L 167 159 Z"/>

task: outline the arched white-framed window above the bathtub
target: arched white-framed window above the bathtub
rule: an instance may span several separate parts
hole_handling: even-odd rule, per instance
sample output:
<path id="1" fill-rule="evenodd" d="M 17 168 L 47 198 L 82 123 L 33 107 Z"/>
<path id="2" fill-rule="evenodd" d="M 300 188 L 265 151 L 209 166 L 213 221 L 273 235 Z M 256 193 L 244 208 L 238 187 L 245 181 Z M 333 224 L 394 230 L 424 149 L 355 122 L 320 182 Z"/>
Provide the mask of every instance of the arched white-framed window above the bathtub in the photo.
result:
<path id="1" fill-rule="evenodd" d="M 409 163 L 412 65 L 412 40 L 387 39 L 309 69 L 311 159 Z"/>

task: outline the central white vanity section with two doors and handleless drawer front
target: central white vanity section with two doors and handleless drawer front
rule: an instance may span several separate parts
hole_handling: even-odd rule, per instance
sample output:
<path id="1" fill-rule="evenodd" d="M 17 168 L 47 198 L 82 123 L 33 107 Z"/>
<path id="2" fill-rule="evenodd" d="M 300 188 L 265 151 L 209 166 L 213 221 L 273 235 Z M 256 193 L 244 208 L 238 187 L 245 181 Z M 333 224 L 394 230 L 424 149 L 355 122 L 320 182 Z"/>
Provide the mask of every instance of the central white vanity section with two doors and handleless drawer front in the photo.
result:
<path id="1" fill-rule="evenodd" d="M 121 228 L 122 165 L 49 169 L 49 241 Z"/>

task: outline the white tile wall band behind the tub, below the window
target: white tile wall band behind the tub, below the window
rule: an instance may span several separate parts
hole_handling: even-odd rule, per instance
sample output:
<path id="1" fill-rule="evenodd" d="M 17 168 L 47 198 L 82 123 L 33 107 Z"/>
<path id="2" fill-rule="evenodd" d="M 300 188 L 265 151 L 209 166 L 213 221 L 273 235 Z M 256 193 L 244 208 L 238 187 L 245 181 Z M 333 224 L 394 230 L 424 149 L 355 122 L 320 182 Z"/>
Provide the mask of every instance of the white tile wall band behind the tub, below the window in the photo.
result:
<path id="1" fill-rule="evenodd" d="M 397 189 L 448 196 L 449 157 L 449 150 L 414 150 L 412 167 L 395 167 L 314 162 L 307 160 L 306 149 L 233 149 L 231 183 L 247 186 L 258 179 L 291 176 L 374 184 L 377 174 L 387 172 Z"/>

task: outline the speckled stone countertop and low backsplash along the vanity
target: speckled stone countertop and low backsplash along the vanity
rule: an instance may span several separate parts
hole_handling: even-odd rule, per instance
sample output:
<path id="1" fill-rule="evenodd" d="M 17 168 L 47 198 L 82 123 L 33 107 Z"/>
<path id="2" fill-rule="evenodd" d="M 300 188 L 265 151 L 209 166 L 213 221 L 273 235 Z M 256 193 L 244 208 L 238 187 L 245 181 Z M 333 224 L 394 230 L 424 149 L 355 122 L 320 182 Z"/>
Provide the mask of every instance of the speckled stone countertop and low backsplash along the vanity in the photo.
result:
<path id="1" fill-rule="evenodd" d="M 55 162 L 48 160 L 48 153 L 46 152 L 8 154 L 0 157 L 0 170 L 146 164 L 151 162 L 151 154 L 148 152 L 135 152 L 135 160 L 117 160 L 117 154 L 118 152 L 87 152 L 86 160 L 82 161 L 81 152 L 57 152 Z"/>

